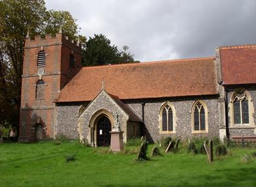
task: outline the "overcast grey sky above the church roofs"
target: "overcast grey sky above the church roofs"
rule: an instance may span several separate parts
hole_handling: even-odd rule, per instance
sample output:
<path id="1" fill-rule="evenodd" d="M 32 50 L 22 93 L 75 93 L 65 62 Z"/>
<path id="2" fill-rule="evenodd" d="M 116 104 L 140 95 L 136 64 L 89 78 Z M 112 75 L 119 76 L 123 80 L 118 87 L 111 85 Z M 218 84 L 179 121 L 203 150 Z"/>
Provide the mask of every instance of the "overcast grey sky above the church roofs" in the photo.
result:
<path id="1" fill-rule="evenodd" d="M 102 33 L 135 60 L 215 55 L 221 45 L 256 43 L 256 0 L 45 0 L 68 10 L 87 38 Z"/>

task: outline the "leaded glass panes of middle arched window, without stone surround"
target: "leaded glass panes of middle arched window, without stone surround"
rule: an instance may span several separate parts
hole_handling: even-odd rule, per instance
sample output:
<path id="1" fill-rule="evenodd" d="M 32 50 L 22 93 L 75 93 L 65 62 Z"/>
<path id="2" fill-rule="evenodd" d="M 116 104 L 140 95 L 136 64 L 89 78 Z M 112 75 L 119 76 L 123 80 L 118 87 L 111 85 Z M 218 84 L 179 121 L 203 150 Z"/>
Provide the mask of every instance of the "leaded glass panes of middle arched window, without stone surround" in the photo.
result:
<path id="1" fill-rule="evenodd" d="M 205 131 L 205 108 L 203 104 L 198 101 L 194 106 L 194 131 Z"/>

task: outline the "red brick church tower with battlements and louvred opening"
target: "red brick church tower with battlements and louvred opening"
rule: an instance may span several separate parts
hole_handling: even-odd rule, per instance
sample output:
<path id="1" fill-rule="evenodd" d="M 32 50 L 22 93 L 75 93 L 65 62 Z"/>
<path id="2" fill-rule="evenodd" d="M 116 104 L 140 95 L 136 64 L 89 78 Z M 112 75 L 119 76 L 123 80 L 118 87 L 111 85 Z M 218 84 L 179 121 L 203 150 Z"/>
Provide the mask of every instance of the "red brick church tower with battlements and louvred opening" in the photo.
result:
<path id="1" fill-rule="evenodd" d="M 26 37 L 20 106 L 20 142 L 54 138 L 54 100 L 81 68 L 81 45 L 56 33 Z M 72 93 L 70 93 L 72 94 Z"/>

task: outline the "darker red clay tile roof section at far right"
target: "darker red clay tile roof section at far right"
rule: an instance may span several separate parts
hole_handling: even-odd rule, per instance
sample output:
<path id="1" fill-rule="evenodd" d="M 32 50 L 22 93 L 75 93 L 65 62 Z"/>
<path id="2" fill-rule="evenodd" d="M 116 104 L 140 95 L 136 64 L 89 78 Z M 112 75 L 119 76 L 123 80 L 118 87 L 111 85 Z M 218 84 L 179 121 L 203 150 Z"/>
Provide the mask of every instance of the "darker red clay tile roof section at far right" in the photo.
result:
<path id="1" fill-rule="evenodd" d="M 224 85 L 256 83 L 256 45 L 220 47 Z"/>

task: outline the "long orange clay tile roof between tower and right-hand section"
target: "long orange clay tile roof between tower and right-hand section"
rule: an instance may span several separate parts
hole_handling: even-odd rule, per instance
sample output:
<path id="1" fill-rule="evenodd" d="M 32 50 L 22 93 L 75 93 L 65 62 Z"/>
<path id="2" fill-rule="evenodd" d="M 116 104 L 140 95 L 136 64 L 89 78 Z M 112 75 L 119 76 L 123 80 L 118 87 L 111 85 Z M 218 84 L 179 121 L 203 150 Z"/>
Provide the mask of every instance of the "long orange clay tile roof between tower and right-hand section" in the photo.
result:
<path id="1" fill-rule="evenodd" d="M 217 94 L 214 58 L 82 68 L 56 102 L 93 100 L 102 88 L 119 99 Z"/>

